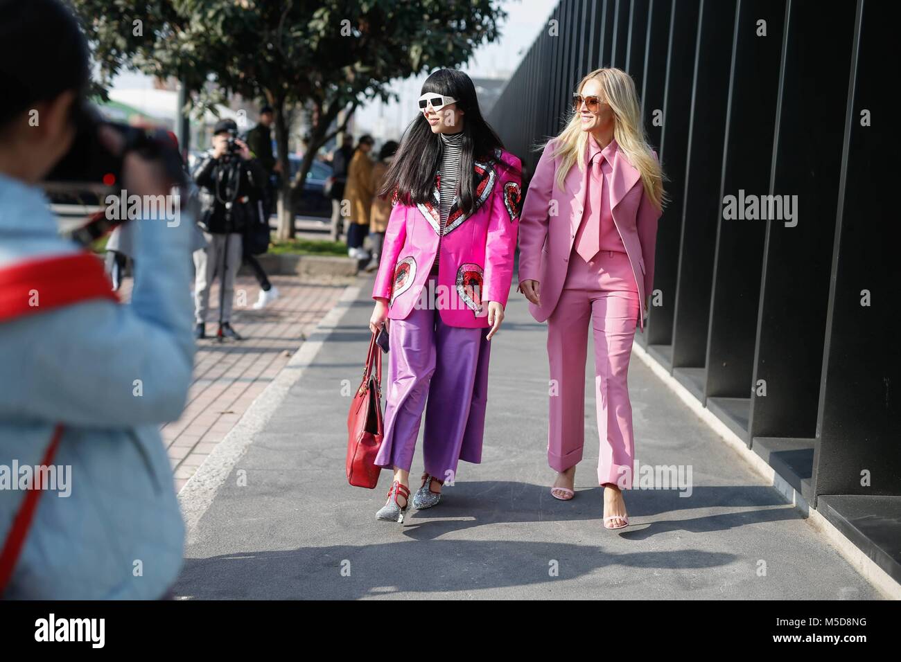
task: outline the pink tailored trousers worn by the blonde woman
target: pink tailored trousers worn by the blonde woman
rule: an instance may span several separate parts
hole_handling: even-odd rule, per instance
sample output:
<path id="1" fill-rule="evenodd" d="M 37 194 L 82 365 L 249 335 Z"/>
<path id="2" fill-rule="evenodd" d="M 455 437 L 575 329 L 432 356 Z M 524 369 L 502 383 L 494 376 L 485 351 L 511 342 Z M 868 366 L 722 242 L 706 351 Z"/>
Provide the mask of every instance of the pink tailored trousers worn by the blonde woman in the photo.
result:
<path id="1" fill-rule="evenodd" d="M 595 336 L 595 398 L 599 485 L 633 483 L 629 358 L 640 302 L 624 252 L 602 250 L 590 262 L 573 251 L 560 301 L 548 318 L 551 404 L 548 463 L 565 471 L 582 459 L 585 443 L 585 365 L 588 326 Z"/>

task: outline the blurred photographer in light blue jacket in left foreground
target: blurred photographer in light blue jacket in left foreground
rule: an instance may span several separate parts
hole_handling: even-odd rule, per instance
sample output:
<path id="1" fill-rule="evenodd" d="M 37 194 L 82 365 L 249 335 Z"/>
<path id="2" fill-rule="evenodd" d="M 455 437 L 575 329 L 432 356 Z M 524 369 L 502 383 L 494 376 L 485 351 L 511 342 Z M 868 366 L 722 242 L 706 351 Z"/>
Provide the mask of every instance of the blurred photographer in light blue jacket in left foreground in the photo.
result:
<path id="1" fill-rule="evenodd" d="M 178 418 L 191 381 L 193 220 L 143 213 L 130 221 L 138 273 L 128 305 L 117 302 L 99 258 L 59 235 L 41 183 L 82 144 L 78 136 L 118 159 L 109 174 L 117 188 L 171 193 L 166 168 L 86 119 L 88 77 L 86 42 L 68 9 L 0 0 L 5 598 L 158 599 L 183 558 L 159 425 Z M 29 467 L 41 471 L 29 478 Z"/>

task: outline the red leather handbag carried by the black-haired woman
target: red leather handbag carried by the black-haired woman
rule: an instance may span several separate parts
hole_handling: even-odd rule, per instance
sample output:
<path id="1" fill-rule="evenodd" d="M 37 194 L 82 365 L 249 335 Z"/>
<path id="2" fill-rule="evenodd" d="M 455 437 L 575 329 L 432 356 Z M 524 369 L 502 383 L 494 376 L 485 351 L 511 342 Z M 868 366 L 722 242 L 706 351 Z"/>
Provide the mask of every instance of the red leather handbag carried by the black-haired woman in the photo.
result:
<path id="1" fill-rule="evenodd" d="M 378 485 L 382 470 L 376 466 L 382 445 L 382 350 L 376 344 L 376 336 L 373 333 L 369 340 L 363 381 L 347 417 L 347 480 L 350 485 L 369 489 Z"/>

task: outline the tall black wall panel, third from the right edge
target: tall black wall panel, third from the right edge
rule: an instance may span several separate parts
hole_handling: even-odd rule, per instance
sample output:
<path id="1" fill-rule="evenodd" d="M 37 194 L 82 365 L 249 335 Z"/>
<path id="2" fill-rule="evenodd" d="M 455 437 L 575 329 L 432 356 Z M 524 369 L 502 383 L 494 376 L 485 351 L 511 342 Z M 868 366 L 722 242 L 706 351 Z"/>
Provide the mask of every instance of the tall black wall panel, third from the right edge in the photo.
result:
<path id="1" fill-rule="evenodd" d="M 738 2 L 725 118 L 719 200 L 734 201 L 735 211 L 724 204 L 717 219 L 705 394 L 746 441 L 766 225 L 737 208 L 769 192 L 785 14 L 782 0 Z"/>

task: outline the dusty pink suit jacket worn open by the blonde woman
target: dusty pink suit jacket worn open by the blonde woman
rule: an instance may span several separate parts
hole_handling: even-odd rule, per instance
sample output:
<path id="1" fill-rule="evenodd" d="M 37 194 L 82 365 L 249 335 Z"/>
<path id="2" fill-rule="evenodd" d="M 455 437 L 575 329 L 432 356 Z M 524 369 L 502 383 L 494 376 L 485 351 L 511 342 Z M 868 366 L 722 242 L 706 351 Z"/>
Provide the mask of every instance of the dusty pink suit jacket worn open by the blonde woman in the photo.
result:
<path id="1" fill-rule="evenodd" d="M 557 307 L 588 188 L 588 168 L 582 171 L 574 164 L 564 179 L 565 190 L 560 190 L 554 179 L 560 159 L 551 157 L 555 144 L 556 139 L 545 146 L 535 167 L 520 220 L 519 282 L 539 282 L 541 305 L 529 304 L 529 312 L 537 322 L 547 320 Z M 622 150 L 616 150 L 614 157 L 610 204 L 614 225 L 623 240 L 638 286 L 639 324 L 643 333 L 644 297 L 651 292 L 654 283 L 654 249 L 660 210 L 644 192 L 638 169 L 629 163 Z"/>

